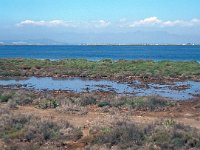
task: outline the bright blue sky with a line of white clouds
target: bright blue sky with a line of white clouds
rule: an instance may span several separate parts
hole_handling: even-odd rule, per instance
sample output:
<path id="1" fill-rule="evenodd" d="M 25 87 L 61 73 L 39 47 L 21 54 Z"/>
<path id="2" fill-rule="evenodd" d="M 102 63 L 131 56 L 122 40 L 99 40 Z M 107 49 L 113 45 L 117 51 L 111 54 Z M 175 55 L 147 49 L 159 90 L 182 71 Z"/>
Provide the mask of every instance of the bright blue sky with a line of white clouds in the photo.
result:
<path id="1" fill-rule="evenodd" d="M 199 0 L 0 0 L 0 42 L 200 43 Z"/>

